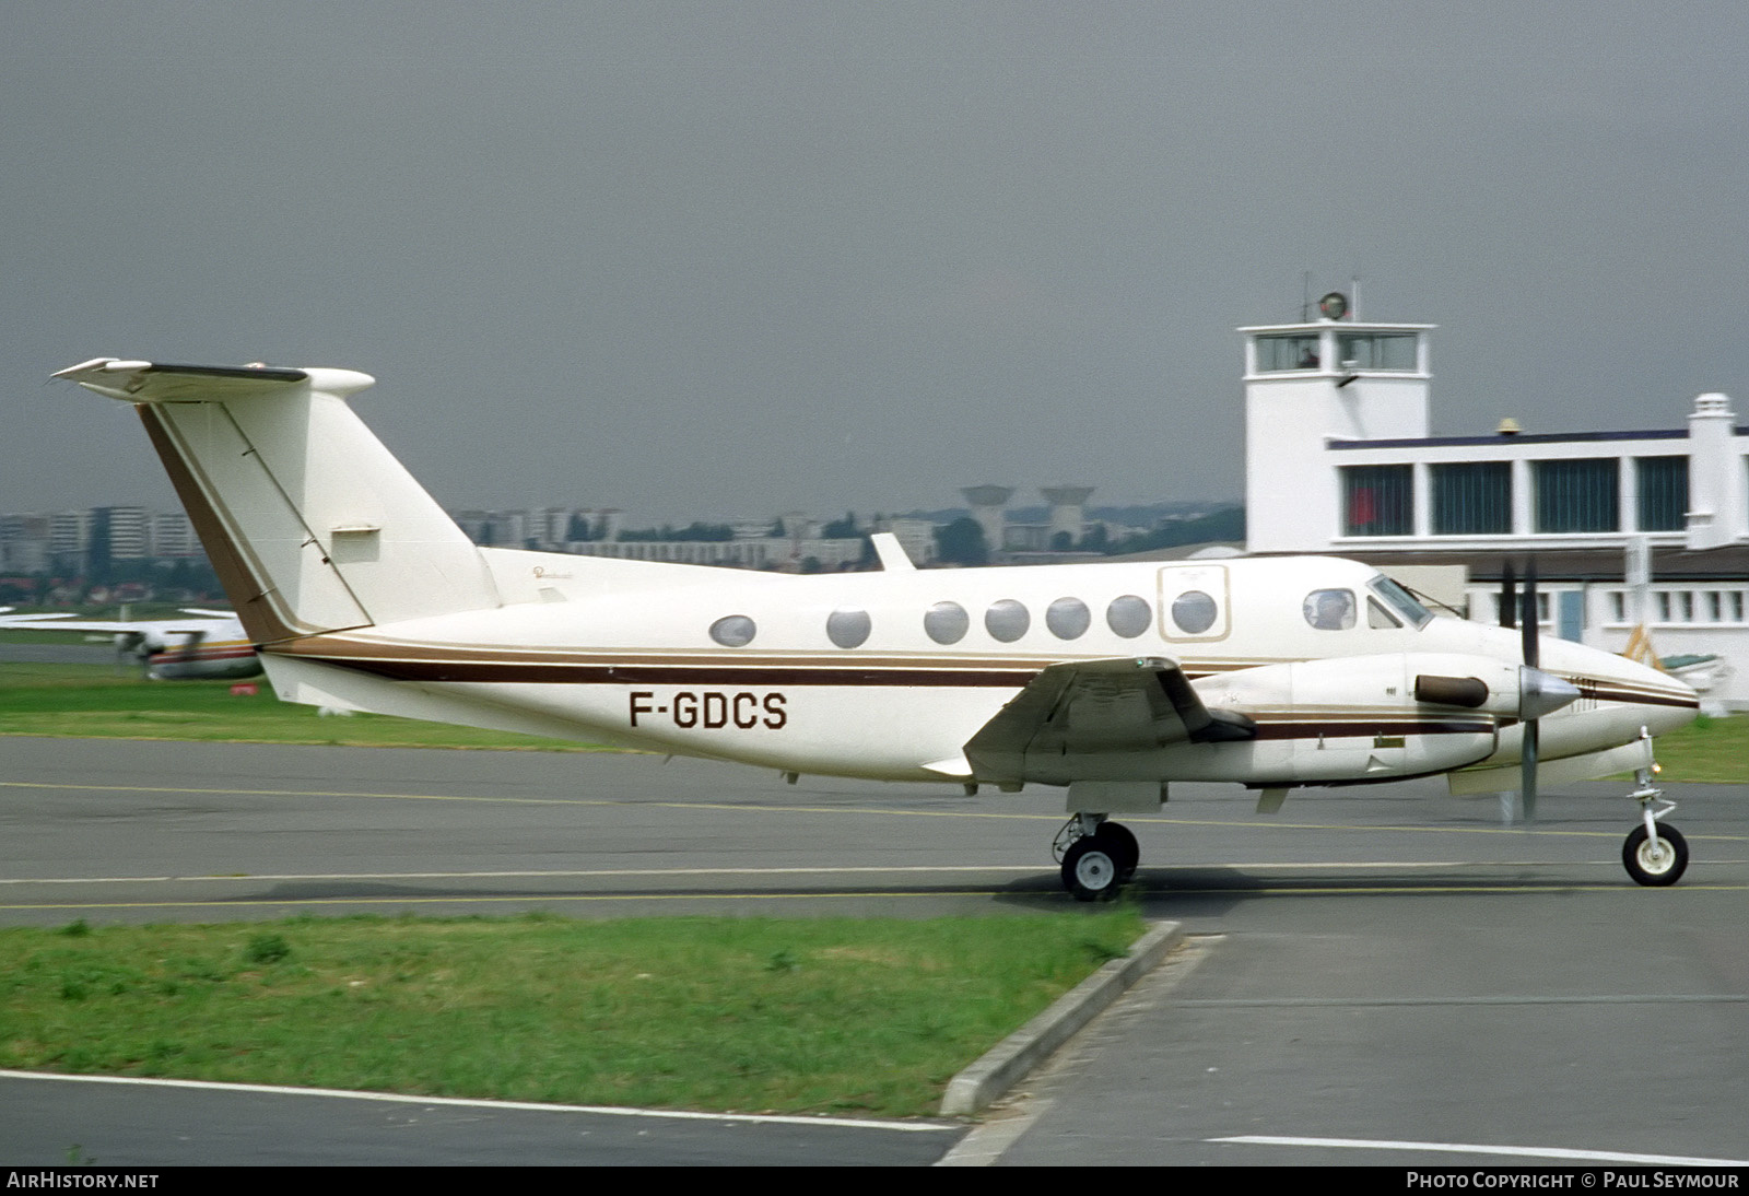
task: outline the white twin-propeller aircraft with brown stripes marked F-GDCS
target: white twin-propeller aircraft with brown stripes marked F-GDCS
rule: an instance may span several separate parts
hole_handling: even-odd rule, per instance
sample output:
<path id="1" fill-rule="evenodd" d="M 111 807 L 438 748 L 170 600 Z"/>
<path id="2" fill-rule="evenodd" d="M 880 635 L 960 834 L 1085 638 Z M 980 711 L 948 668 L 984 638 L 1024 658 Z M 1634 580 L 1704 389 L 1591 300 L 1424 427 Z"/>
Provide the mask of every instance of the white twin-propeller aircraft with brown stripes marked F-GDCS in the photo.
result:
<path id="1" fill-rule="evenodd" d="M 918 572 L 878 535 L 883 572 L 792 577 L 476 547 L 346 406 L 367 374 L 56 376 L 136 404 L 287 701 L 791 780 L 1060 785 L 1083 900 L 1137 866 L 1109 815 L 1158 811 L 1172 780 L 1259 789 L 1273 811 L 1291 787 L 1450 773 L 1523 789 L 1530 813 L 1539 776 L 1635 771 L 1628 873 L 1669 885 L 1688 864 L 1651 736 L 1695 717 L 1691 689 L 1534 621 L 1434 615 L 1354 561 Z"/>

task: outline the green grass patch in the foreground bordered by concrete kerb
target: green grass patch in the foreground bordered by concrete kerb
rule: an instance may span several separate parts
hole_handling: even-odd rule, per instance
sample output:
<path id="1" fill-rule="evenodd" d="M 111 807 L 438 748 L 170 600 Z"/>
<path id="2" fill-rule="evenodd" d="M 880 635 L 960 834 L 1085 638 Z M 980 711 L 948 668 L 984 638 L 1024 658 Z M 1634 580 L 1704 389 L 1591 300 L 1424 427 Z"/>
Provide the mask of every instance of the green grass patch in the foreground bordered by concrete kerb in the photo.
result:
<path id="1" fill-rule="evenodd" d="M 1133 909 L 934 921 L 339 918 L 0 930 L 0 1067 L 932 1114 Z"/>

